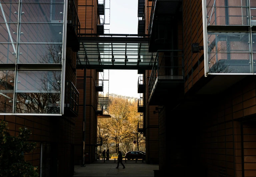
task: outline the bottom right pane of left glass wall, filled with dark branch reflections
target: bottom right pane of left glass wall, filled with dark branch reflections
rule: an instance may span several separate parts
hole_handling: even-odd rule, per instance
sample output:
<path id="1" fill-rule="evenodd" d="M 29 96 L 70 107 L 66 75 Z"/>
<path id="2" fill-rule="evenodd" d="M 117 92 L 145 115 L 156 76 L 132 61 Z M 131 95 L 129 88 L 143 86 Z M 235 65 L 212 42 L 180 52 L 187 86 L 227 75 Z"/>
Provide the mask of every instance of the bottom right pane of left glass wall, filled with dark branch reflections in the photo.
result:
<path id="1" fill-rule="evenodd" d="M 16 93 L 15 113 L 60 114 L 60 93 Z"/>

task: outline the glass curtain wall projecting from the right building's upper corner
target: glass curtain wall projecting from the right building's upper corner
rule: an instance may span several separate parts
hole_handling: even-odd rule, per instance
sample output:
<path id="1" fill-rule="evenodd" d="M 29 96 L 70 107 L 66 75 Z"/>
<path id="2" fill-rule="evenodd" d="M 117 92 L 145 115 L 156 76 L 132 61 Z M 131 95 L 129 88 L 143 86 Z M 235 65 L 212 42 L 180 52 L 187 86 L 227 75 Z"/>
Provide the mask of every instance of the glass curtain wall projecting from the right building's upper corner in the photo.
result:
<path id="1" fill-rule="evenodd" d="M 256 1 L 203 0 L 207 74 L 256 72 Z"/>

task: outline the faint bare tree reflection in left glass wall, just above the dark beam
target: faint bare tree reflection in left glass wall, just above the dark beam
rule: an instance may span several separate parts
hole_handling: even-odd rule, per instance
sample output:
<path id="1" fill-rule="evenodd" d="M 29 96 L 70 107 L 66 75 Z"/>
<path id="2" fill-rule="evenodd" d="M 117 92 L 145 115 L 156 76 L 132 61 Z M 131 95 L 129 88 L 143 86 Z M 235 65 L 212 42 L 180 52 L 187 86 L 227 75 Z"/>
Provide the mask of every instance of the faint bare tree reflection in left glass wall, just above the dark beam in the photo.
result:
<path id="1" fill-rule="evenodd" d="M 51 39 L 50 44 L 46 45 L 46 54 L 40 55 L 39 63 L 50 63 L 50 64 L 60 64 L 62 60 L 62 44 L 53 44 L 56 43 Z M 62 43 L 58 41 L 57 43 Z"/>

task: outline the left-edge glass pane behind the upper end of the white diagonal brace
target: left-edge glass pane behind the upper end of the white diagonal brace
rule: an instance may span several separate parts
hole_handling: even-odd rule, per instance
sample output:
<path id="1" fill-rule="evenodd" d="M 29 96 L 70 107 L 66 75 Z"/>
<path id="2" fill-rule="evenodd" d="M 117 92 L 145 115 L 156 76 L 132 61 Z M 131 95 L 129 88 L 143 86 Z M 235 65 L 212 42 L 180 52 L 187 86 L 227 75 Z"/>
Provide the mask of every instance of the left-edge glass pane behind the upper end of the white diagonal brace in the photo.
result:
<path id="1" fill-rule="evenodd" d="M 0 22 L 18 23 L 18 3 L 0 3 Z"/>

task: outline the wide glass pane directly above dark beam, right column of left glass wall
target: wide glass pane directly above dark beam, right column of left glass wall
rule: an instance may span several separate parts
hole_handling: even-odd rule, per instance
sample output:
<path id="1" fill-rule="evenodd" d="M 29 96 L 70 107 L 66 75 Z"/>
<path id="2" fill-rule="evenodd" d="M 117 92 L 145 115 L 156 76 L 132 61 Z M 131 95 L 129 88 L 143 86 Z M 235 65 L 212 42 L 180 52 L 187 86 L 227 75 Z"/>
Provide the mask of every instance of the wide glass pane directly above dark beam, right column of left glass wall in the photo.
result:
<path id="1" fill-rule="evenodd" d="M 18 50 L 18 63 L 61 63 L 62 44 L 19 44 Z"/>

